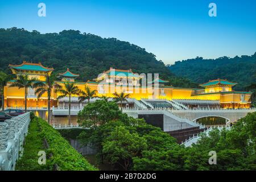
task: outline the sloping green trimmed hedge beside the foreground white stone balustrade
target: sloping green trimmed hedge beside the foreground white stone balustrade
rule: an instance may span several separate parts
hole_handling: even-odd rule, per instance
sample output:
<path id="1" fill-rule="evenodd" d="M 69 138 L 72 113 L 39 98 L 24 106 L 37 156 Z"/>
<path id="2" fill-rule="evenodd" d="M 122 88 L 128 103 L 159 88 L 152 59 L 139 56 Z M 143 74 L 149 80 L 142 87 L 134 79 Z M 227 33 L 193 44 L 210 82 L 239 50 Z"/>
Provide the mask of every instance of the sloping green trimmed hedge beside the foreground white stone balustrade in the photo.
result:
<path id="1" fill-rule="evenodd" d="M 44 147 L 43 141 L 47 140 L 49 148 Z M 46 151 L 46 165 L 38 164 L 38 152 Z M 30 123 L 24 154 L 16 164 L 16 170 L 53 170 L 53 165 L 57 164 L 61 171 L 96 171 L 98 170 L 90 164 L 84 156 L 79 154 L 67 140 L 61 137 L 60 133 L 48 125 L 42 118 L 35 117 Z"/>

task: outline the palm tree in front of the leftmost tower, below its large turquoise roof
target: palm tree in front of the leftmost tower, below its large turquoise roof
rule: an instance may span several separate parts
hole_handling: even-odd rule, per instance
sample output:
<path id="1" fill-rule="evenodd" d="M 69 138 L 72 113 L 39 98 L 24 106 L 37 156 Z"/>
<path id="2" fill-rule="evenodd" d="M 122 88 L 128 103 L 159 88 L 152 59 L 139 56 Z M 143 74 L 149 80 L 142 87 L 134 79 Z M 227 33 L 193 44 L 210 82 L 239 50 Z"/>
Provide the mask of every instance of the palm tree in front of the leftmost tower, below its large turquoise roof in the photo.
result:
<path id="1" fill-rule="evenodd" d="M 19 89 L 25 89 L 25 113 L 27 113 L 27 89 L 32 87 L 37 78 L 30 78 L 27 74 L 18 75 L 18 78 L 13 82 L 10 87 L 18 87 Z"/>

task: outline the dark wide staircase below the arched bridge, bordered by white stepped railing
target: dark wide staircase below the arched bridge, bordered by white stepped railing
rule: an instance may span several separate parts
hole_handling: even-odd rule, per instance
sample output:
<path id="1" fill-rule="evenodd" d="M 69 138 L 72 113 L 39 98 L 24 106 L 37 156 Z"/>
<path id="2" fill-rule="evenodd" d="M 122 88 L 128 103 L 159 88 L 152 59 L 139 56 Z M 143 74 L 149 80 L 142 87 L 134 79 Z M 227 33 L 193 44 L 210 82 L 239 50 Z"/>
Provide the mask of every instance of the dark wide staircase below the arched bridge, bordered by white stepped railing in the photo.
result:
<path id="1" fill-rule="evenodd" d="M 189 138 L 204 132 L 205 129 L 200 129 L 200 127 L 191 127 L 188 129 L 181 129 L 181 130 L 175 130 L 175 131 L 167 131 L 168 134 L 170 134 L 172 137 L 177 139 L 177 143 L 181 144 L 182 142 L 185 142 L 185 140 L 188 140 Z"/>

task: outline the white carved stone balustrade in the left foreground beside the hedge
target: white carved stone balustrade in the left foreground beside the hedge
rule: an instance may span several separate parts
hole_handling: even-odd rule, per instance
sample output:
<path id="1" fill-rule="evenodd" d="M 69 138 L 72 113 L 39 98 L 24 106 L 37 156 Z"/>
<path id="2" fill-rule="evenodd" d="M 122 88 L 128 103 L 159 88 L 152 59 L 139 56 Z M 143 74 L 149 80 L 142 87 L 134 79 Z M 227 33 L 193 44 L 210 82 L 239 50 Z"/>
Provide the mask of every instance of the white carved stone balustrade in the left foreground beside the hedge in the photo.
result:
<path id="1" fill-rule="evenodd" d="M 0 122 L 0 171 L 14 171 L 16 160 L 23 155 L 29 123 L 30 113 Z"/>

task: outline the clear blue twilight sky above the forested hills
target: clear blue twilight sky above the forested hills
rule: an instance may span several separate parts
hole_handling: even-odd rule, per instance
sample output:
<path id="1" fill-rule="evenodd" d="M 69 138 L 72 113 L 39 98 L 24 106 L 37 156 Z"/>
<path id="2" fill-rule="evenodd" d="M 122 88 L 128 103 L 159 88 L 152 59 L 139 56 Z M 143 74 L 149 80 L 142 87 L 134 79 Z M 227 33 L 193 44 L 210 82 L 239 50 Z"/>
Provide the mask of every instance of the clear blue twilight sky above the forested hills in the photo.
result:
<path id="1" fill-rule="evenodd" d="M 38 4 L 46 4 L 46 17 Z M 209 3 L 217 17 L 208 15 Z M 145 48 L 165 64 L 195 58 L 253 55 L 255 0 L 0 0 L 0 28 L 41 33 L 79 30 Z"/>

